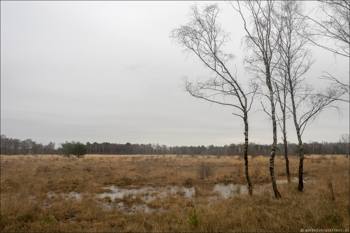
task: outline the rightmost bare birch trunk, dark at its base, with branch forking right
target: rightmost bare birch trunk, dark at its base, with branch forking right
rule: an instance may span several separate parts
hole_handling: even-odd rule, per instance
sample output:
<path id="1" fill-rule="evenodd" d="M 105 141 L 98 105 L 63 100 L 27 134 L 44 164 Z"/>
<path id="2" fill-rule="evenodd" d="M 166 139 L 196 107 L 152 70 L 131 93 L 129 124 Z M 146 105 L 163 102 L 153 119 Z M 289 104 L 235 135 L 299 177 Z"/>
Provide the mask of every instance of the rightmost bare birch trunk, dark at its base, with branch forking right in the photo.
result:
<path id="1" fill-rule="evenodd" d="M 325 95 L 324 90 L 314 93 L 314 89 L 304 79 L 304 74 L 309 71 L 314 63 L 313 53 L 309 48 L 312 35 L 308 31 L 306 22 L 300 17 L 303 12 L 302 1 L 280 1 L 276 27 L 281 27 L 278 42 L 279 58 L 277 66 L 279 69 L 280 84 L 286 88 L 292 106 L 285 105 L 293 115 L 299 144 L 299 183 L 297 189 L 303 190 L 303 145 L 301 136 L 308 123 L 317 120 L 321 111 L 333 107 L 332 102 L 336 99 L 334 93 Z M 283 80 L 286 79 L 286 81 Z"/>

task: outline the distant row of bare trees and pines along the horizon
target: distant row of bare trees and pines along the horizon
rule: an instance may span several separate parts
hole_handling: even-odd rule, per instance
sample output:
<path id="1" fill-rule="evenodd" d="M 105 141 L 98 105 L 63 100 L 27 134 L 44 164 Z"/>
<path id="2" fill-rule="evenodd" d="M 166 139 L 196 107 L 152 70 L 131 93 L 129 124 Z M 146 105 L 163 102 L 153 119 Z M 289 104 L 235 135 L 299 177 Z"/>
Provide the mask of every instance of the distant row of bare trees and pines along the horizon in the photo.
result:
<path id="1" fill-rule="evenodd" d="M 85 143 L 87 154 L 189 154 L 189 155 L 216 155 L 234 156 L 243 155 L 244 143 L 232 143 L 224 146 L 166 146 L 157 144 L 117 144 L 117 143 Z M 303 143 L 305 154 L 345 154 L 348 144 L 342 142 L 328 143 L 311 141 Z M 0 152 L 2 155 L 14 154 L 57 154 L 61 155 L 61 144 L 50 142 L 46 145 L 36 143 L 32 139 L 21 141 L 20 139 L 7 138 L 1 134 Z M 268 156 L 271 152 L 271 145 L 249 143 L 248 155 Z M 299 148 L 295 143 L 288 143 L 288 155 L 298 155 Z M 279 143 L 276 148 L 276 155 L 284 155 L 284 146 Z"/>

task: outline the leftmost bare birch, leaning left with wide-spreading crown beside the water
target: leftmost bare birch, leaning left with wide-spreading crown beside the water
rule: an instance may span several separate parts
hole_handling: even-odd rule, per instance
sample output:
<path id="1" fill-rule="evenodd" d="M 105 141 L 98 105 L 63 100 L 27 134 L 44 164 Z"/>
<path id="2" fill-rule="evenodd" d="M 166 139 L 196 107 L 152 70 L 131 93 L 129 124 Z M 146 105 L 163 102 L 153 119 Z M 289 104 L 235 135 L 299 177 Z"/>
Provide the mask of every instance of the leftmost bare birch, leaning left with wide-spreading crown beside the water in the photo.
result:
<path id="1" fill-rule="evenodd" d="M 220 9 L 216 4 L 203 7 L 202 12 L 197 6 L 190 7 L 190 22 L 187 25 L 172 30 L 170 37 L 173 42 L 184 48 L 184 53 L 195 54 L 208 67 L 211 76 L 206 80 L 196 82 L 183 77 L 184 89 L 199 99 L 233 107 L 240 113 L 233 113 L 244 122 L 244 165 L 248 182 L 249 194 L 252 195 L 252 183 L 248 173 L 248 111 L 255 98 L 257 86 L 252 84 L 246 92 L 236 77 L 236 67 L 230 65 L 235 56 L 225 53 L 222 48 L 230 41 L 230 34 L 221 28 L 217 15 Z M 231 73 L 231 69 L 233 72 Z"/>

